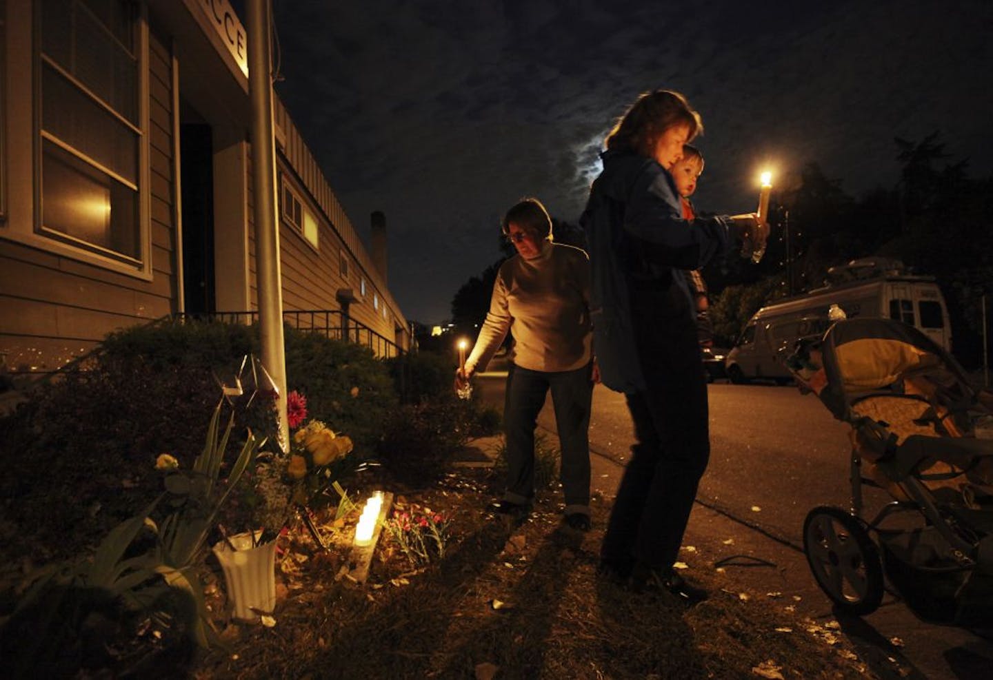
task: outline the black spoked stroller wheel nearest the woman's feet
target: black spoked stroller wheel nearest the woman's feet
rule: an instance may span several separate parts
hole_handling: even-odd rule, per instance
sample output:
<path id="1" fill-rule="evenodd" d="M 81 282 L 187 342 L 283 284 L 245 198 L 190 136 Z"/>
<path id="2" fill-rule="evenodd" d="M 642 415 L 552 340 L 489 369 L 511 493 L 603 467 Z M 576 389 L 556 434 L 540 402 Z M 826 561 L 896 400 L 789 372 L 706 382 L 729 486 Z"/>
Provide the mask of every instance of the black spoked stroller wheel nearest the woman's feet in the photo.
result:
<path id="1" fill-rule="evenodd" d="M 883 567 L 858 518 L 838 507 L 810 510 L 803 521 L 803 553 L 817 585 L 839 610 L 863 615 L 879 609 Z"/>

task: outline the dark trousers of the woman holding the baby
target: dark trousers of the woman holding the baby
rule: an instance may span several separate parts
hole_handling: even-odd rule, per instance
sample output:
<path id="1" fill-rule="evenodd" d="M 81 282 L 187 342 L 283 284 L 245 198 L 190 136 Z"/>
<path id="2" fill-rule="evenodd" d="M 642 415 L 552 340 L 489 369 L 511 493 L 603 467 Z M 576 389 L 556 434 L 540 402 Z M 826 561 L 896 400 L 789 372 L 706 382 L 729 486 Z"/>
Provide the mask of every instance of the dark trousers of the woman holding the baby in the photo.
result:
<path id="1" fill-rule="evenodd" d="M 637 442 L 601 548 L 605 562 L 638 560 L 656 569 L 676 561 L 710 458 L 707 384 L 696 325 L 688 310 L 666 317 L 662 302 L 650 294 L 633 296 L 646 388 L 627 395 Z"/>

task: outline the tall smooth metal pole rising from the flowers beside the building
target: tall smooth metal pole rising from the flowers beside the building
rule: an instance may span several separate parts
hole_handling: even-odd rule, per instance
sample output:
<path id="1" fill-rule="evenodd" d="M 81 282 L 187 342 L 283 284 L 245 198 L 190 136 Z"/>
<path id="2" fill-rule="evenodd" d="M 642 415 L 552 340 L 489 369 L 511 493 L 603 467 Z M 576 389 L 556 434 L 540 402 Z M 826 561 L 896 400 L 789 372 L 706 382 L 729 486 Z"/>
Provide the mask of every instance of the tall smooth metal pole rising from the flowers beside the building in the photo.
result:
<path id="1" fill-rule="evenodd" d="M 251 101 L 252 189 L 255 196 L 255 270 L 262 365 L 276 383 L 279 447 L 289 451 L 283 281 L 276 214 L 276 143 L 272 134 L 271 0 L 248 0 L 248 98 Z"/>

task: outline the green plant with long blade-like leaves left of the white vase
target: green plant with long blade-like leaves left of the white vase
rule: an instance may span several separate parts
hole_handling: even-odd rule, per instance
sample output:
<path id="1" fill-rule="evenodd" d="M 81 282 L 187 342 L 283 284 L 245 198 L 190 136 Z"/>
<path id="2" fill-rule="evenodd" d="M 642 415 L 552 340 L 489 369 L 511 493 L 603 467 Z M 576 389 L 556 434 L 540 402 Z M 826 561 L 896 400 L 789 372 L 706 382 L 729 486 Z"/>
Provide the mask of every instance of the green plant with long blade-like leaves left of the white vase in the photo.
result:
<path id="1" fill-rule="evenodd" d="M 87 633 L 94 621 L 111 621 L 123 638 L 135 636 L 147 620 L 159 630 L 182 631 L 199 646 L 218 641 L 197 570 L 218 509 L 263 443 L 248 433 L 221 479 L 234 426 L 231 414 L 221 432 L 222 406 L 221 401 L 214 409 L 206 444 L 189 472 L 171 455 L 159 456 L 156 467 L 165 473 L 165 492 L 110 530 L 91 556 L 50 565 L 29 579 L 0 636 L 13 668 L 63 674 L 73 667 L 113 663 L 105 640 Z M 30 639 L 23 630 L 31 631 Z M 91 638 L 97 643 L 87 643 Z"/>

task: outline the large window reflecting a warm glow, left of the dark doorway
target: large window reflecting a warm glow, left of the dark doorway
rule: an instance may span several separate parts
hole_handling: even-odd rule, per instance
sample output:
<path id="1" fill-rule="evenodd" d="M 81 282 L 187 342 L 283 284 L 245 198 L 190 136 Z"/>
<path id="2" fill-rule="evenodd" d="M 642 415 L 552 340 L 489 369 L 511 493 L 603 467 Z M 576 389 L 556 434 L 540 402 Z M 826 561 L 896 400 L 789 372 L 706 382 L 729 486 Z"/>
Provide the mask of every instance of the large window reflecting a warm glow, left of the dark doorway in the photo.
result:
<path id="1" fill-rule="evenodd" d="M 44 0 L 41 232 L 128 265 L 142 238 L 138 5 Z"/>

